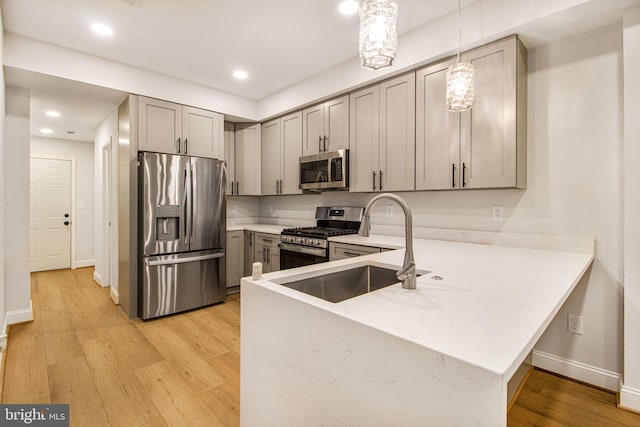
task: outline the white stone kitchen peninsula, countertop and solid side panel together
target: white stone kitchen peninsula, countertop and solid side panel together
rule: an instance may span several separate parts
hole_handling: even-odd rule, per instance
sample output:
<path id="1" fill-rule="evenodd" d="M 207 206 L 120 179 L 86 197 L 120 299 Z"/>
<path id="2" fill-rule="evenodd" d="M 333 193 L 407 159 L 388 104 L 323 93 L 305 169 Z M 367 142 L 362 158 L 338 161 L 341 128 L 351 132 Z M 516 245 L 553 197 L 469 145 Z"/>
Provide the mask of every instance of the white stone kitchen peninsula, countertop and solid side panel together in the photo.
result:
<path id="1" fill-rule="evenodd" d="M 242 279 L 242 425 L 506 425 L 507 384 L 589 269 L 586 246 L 416 239 L 416 290 L 339 303 L 279 283 L 398 268 L 404 250 Z"/>

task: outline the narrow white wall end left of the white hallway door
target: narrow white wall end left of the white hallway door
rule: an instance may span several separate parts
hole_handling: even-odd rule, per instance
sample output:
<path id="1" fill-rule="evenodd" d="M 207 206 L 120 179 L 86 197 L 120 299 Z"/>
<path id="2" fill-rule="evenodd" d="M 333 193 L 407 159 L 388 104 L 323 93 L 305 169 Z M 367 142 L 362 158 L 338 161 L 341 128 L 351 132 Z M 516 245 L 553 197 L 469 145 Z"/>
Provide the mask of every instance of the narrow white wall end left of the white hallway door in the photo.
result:
<path id="1" fill-rule="evenodd" d="M 6 87 L 5 288 L 8 323 L 32 318 L 29 278 L 29 91 Z"/>

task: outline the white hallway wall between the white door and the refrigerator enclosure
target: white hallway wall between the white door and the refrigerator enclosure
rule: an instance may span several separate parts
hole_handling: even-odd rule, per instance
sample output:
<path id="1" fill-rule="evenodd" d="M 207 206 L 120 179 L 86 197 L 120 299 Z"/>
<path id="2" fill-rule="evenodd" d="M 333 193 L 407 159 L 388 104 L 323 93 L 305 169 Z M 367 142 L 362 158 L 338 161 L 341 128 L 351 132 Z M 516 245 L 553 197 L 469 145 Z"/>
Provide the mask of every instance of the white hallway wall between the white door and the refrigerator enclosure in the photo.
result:
<path id="1" fill-rule="evenodd" d="M 118 183 L 118 108 L 113 106 L 113 111 L 104 119 L 104 121 L 98 127 L 95 137 L 95 256 L 96 256 L 96 268 L 94 271 L 94 279 L 102 286 L 111 286 L 111 292 L 114 298 L 117 300 L 118 295 L 118 263 L 117 263 L 117 244 L 115 231 L 118 229 L 118 216 L 114 215 L 117 212 L 118 202 L 117 197 L 114 197 L 115 191 L 113 191 L 111 197 L 111 228 L 108 227 L 107 218 L 108 212 L 106 206 L 107 200 L 104 195 L 104 165 L 105 156 L 109 155 L 109 151 L 105 151 L 107 147 L 111 147 L 111 188 L 117 189 Z M 108 234 L 111 233 L 111 256 L 107 252 L 108 247 Z M 107 260 L 111 259 L 111 265 L 107 265 Z"/>

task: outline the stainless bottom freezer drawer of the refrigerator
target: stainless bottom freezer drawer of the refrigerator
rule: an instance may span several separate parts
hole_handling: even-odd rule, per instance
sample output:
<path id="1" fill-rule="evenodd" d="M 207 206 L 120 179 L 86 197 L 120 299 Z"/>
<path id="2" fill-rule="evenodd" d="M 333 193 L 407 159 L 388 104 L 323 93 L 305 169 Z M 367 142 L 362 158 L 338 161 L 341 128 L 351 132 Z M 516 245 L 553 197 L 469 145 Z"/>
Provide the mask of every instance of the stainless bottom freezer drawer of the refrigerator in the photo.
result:
<path id="1" fill-rule="evenodd" d="M 142 259 L 141 319 L 166 316 L 224 300 L 223 250 L 158 255 Z"/>

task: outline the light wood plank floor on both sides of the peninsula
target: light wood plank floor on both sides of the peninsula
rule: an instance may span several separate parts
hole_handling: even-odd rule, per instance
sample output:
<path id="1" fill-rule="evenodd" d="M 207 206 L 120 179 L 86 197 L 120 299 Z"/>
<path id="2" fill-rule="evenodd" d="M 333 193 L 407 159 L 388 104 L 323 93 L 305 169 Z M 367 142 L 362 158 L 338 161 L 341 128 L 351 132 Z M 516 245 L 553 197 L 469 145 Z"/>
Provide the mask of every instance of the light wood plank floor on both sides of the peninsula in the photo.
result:
<path id="1" fill-rule="evenodd" d="M 2 403 L 69 403 L 72 426 L 237 426 L 240 302 L 129 320 L 93 269 L 31 275 L 35 321 L 9 331 Z M 615 395 L 534 371 L 509 426 L 640 426 Z"/>

